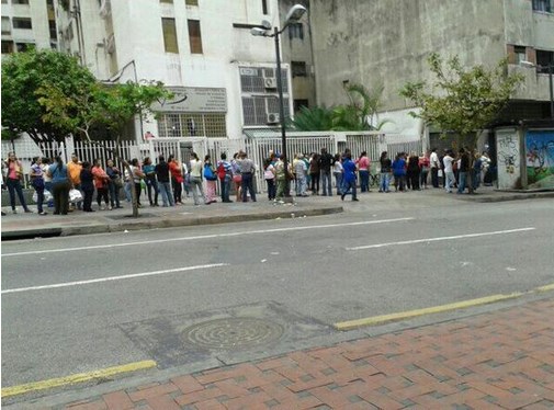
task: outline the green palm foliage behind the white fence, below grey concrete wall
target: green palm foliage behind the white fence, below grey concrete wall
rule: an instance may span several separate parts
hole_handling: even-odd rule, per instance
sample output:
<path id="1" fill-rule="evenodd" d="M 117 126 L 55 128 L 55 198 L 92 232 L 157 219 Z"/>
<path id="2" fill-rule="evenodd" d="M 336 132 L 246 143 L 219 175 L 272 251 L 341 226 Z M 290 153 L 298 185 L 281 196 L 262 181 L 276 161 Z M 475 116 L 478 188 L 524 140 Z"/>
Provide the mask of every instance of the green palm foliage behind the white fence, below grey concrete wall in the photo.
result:
<path id="1" fill-rule="evenodd" d="M 378 129 L 384 122 L 373 125 L 381 106 L 383 87 L 377 87 L 374 92 L 361 84 L 348 86 L 344 91 L 350 100 L 349 104 L 335 105 L 330 109 L 315 106 L 302 107 L 290 122 L 290 127 L 296 130 L 371 130 Z"/>

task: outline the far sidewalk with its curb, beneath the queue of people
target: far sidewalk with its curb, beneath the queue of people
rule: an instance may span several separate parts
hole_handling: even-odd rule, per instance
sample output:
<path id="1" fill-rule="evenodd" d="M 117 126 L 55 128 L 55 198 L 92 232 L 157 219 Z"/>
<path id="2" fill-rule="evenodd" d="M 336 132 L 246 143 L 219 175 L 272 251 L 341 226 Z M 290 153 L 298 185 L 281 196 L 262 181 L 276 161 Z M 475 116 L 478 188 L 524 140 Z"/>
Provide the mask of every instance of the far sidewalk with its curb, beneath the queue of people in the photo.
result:
<path id="1" fill-rule="evenodd" d="M 408 192 L 407 194 L 389 193 L 380 194 L 373 189 L 369 194 L 360 194 L 360 203 L 355 206 L 373 206 L 386 204 L 389 201 L 434 203 L 441 201 L 464 201 L 475 203 L 494 203 L 501 201 L 529 200 L 541 197 L 554 197 L 554 192 L 498 192 L 493 187 L 484 186 L 475 195 L 448 194 L 441 189 L 429 189 Z M 69 236 L 101 234 L 125 230 L 169 228 L 179 226 L 194 226 L 208 224 L 225 224 L 274 218 L 294 218 L 304 216 L 328 215 L 343 212 L 350 207 L 350 197 L 344 202 L 338 196 L 309 196 L 296 198 L 294 205 L 274 205 L 269 202 L 264 194 L 260 194 L 258 202 L 223 204 L 217 202 L 211 205 L 193 206 L 192 200 L 185 200 L 184 206 L 170 208 L 145 206 L 139 209 L 139 218 L 131 218 L 129 204 L 123 202 L 124 209 L 101 210 L 92 214 L 74 212 L 67 216 L 52 215 L 52 208 L 47 208 L 49 215 L 22 213 L 13 215 L 9 206 L 2 206 L 7 214 L 1 218 L 2 240 L 33 238 L 39 236 Z M 5 204 L 2 204 L 5 205 Z M 36 210 L 36 206 L 31 205 Z M 93 204 L 93 209 L 97 205 Z"/>

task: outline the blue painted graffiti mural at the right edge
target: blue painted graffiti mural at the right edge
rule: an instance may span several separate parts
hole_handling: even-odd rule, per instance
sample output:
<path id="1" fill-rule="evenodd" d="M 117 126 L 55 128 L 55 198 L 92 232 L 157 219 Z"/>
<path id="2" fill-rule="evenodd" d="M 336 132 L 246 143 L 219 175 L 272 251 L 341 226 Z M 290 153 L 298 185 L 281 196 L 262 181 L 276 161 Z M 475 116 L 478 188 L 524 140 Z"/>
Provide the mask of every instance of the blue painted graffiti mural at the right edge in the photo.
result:
<path id="1" fill-rule="evenodd" d="M 525 133 L 528 189 L 554 189 L 554 130 Z"/>

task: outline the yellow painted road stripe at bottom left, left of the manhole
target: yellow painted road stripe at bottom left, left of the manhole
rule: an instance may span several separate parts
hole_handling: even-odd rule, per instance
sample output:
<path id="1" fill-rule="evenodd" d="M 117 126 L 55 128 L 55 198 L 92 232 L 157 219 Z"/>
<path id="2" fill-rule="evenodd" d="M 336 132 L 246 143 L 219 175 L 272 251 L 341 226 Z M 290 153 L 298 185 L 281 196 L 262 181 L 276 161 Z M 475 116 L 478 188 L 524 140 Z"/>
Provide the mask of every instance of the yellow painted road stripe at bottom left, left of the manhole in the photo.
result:
<path id="1" fill-rule="evenodd" d="M 136 363 L 129 363 L 122 366 L 106 367 L 89 373 L 78 373 L 71 376 L 50 378 L 49 380 L 33 381 L 25 385 L 12 386 L 2 389 L 2 398 L 23 395 L 30 391 L 45 390 L 54 387 L 60 387 L 66 385 L 75 385 L 77 383 L 89 381 L 95 378 L 110 377 L 118 375 L 122 373 L 144 371 L 146 368 L 156 367 L 156 362 L 154 361 L 143 361 Z"/>

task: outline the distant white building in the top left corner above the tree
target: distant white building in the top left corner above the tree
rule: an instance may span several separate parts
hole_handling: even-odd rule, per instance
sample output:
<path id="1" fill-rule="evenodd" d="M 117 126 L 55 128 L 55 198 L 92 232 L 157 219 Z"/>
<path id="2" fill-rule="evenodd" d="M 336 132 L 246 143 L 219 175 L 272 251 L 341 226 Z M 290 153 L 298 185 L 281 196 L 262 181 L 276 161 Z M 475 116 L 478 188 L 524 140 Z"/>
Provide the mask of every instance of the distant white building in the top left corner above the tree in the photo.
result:
<path id="1" fill-rule="evenodd" d="M 2 0 L 2 56 L 30 46 L 57 47 L 54 0 Z"/>

